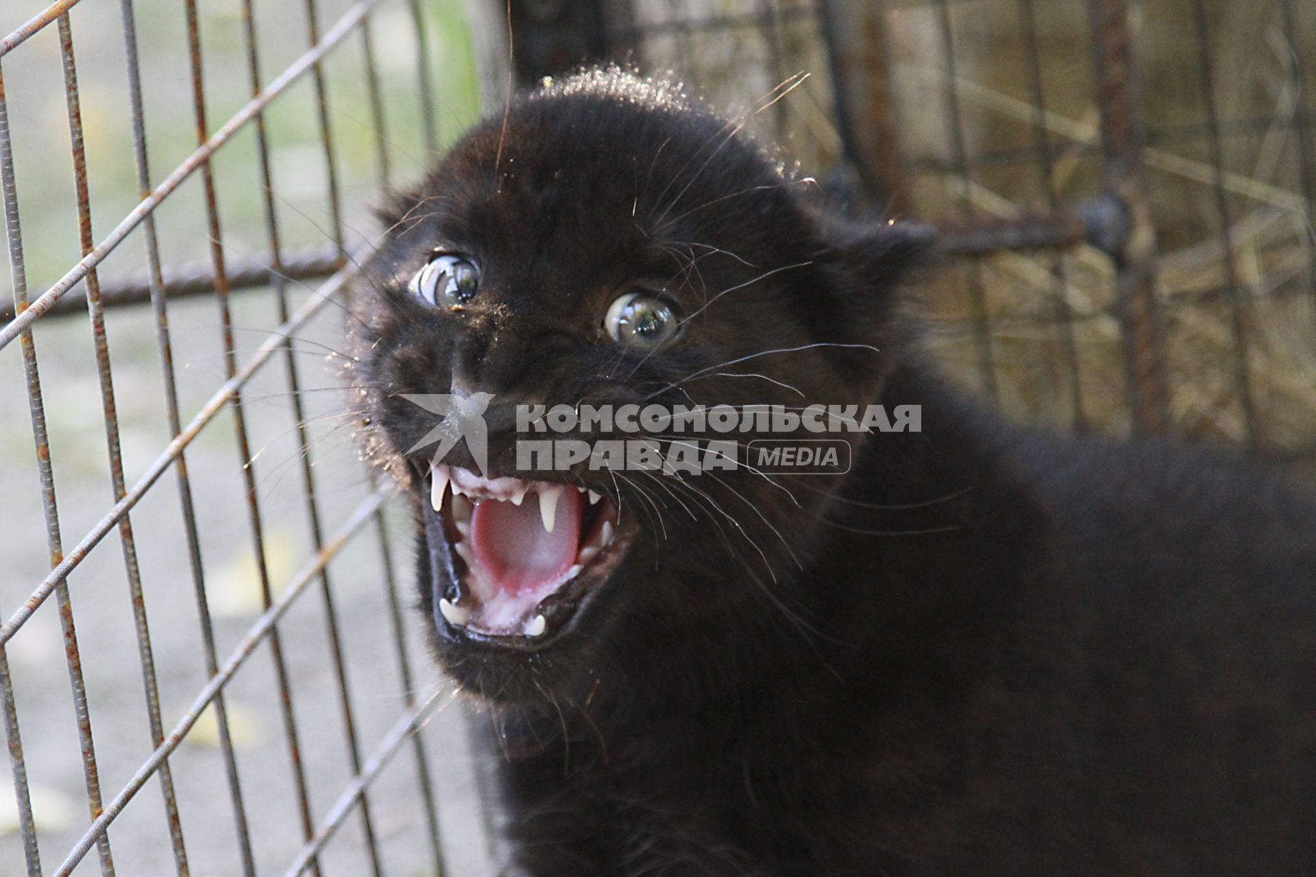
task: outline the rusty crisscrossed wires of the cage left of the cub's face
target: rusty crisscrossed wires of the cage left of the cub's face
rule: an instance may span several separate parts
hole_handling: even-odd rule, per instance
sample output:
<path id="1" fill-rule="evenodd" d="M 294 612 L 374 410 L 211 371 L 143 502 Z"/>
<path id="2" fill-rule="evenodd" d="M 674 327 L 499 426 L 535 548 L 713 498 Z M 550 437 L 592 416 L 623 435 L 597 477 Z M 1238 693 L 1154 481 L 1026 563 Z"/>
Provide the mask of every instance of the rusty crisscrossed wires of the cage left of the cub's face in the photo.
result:
<path id="1" fill-rule="evenodd" d="M 436 696 L 418 697 L 415 693 L 415 675 L 411 669 L 411 656 L 405 648 L 405 631 L 403 622 L 401 600 L 397 593 L 397 584 L 393 575 L 391 548 L 386 530 L 380 494 L 366 500 L 354 511 L 347 522 L 337 533 L 326 535 L 322 529 L 321 510 L 318 508 L 313 468 L 309 454 L 303 454 L 301 493 L 305 500 L 305 514 L 311 527 L 315 556 L 300 571 L 287 590 L 282 590 L 275 598 L 275 589 L 268 567 L 265 564 L 263 525 L 257 492 L 257 476 L 254 465 L 245 465 L 242 475 L 246 485 L 247 508 L 250 517 L 251 538 L 255 543 L 257 557 L 261 571 L 261 585 L 266 611 L 249 628 L 241 646 L 222 664 L 218 660 L 213 623 L 209 617 L 207 597 L 205 573 L 200 556 L 200 539 L 197 534 L 195 500 L 192 496 L 191 479 L 187 469 L 187 448 L 195 442 L 201 430 L 209 425 L 221 412 L 230 412 L 234 417 L 236 439 L 241 459 L 251 459 L 251 446 L 243 422 L 242 391 L 246 384 L 271 359 L 280 358 L 284 362 L 286 377 L 292 388 L 292 415 L 295 430 L 300 444 L 305 448 L 309 444 L 309 435 L 305 431 L 307 418 L 301 409 L 300 387 L 301 380 L 297 362 L 293 354 L 291 337 L 305 326 L 328 304 L 338 298 L 350 280 L 357 275 L 358 258 L 362 254 L 353 254 L 346 250 L 342 235 L 341 195 L 340 184 L 330 176 L 328 184 L 328 199 L 330 214 L 333 217 L 332 250 L 315 251 L 286 251 L 278 227 L 278 217 L 274 202 L 274 187 L 271 183 L 270 156 L 266 145 L 265 112 L 272 101 L 283 93 L 299 78 L 309 74 L 315 80 L 317 91 L 318 131 L 320 142 L 325 153 L 329 168 L 336 166 L 333 153 L 332 128 L 329 120 L 328 93 L 324 72 L 320 67 L 330 50 L 345 41 L 354 30 L 362 34 L 362 57 L 365 59 L 363 74 L 370 83 L 368 97 L 371 101 L 371 121 L 376 134 L 376 163 L 380 184 L 387 184 L 391 168 L 387 155 L 387 138 L 384 134 L 384 110 L 382 92 L 375 71 L 375 58 L 370 47 L 370 34 L 367 30 L 367 17 L 370 12 L 380 5 L 383 0 L 359 0 L 343 17 L 336 21 L 324 33 L 320 32 L 317 8 L 315 0 L 307 0 L 305 12 L 308 16 L 308 49 L 290 67 L 283 70 L 274 80 L 265 83 L 258 64 L 258 34 L 257 17 L 253 1 L 245 0 L 245 42 L 250 74 L 251 99 L 232 118 L 224 122 L 215 131 L 209 130 L 205 118 L 204 82 L 201 41 L 197 30 L 196 5 L 193 0 L 186 1 L 187 20 L 190 25 L 188 60 L 193 85 L 193 113 L 196 117 L 197 147 L 187 159 L 171 171 L 162 183 L 151 184 L 151 172 L 147 162 L 147 143 L 143 124 L 141 70 L 137 51 L 137 28 L 134 21 L 133 0 L 120 0 L 122 36 L 128 63 L 129 108 L 133 118 L 133 151 L 137 171 L 137 183 L 141 192 L 138 205 L 121 220 L 114 229 L 99 243 L 93 237 L 91 224 L 91 195 L 87 184 L 87 154 L 82 131 L 82 107 L 78 92 L 78 66 L 74 53 L 72 25 L 66 14 L 74 5 L 63 0 L 54 4 L 47 11 L 33 18 L 22 29 L 11 34 L 3 43 L 0 55 L 12 51 L 22 45 L 28 38 L 37 34 L 47 25 L 57 25 L 61 41 L 61 58 L 64 74 L 64 97 L 68 114 L 70 151 L 74 159 L 74 178 L 76 193 L 76 214 L 79 242 L 82 246 L 82 259 L 53 287 L 29 301 L 26 289 L 26 272 L 24 270 L 21 220 L 18 213 L 17 180 L 13 168 L 12 138 L 9 130 L 8 104 L 5 101 L 3 68 L 0 68 L 0 181 L 3 181 L 7 234 L 9 241 L 11 276 L 14 288 L 13 306 L 4 314 L 7 325 L 0 329 L 0 347 L 12 341 L 20 341 L 25 379 L 28 383 L 28 397 L 30 404 L 30 417 L 33 437 L 37 448 L 38 473 L 42 481 L 42 501 L 46 513 L 47 547 L 50 552 L 51 575 L 37 586 L 22 606 L 13 611 L 9 619 L 0 626 L 0 694 L 3 694 L 4 726 L 9 744 L 11 769 L 13 789 L 18 802 L 18 820 L 22 835 L 26 873 L 41 874 L 41 851 L 37 844 L 37 830 L 33 819 L 32 793 L 28 778 L 28 768 L 24 759 L 21 726 L 18 721 L 18 706 L 13 698 L 13 684 L 8 661 L 7 646 L 9 640 L 20 632 L 34 611 L 51 596 L 57 597 L 59 622 L 64 635 L 64 652 L 70 675 L 70 684 L 74 694 L 74 710 L 80 738 L 83 756 L 83 772 L 87 785 L 87 802 L 89 826 L 78 844 L 63 856 L 62 864 L 54 872 L 57 874 L 71 873 L 75 866 L 87 856 L 91 849 L 97 849 L 99 865 L 103 874 L 114 873 L 114 860 L 109 844 L 109 827 L 122 813 L 124 807 L 138 794 L 138 792 L 155 777 L 164 799 L 164 813 L 167 820 L 167 834 L 170 848 L 172 849 L 175 870 L 182 876 L 190 873 L 187 848 L 183 836 L 183 824 L 179 818 L 175 801 L 174 781 L 170 772 L 170 755 L 182 743 L 183 738 L 192 728 L 205 707 L 212 707 L 216 713 L 218 726 L 220 749 L 222 752 L 225 773 L 229 785 L 229 798 L 232 803 L 236 836 L 242 863 L 242 873 L 254 874 L 255 861 L 251 847 L 251 824 L 247 819 L 246 806 L 242 795 L 242 784 L 238 774 L 238 765 L 234 757 L 232 731 L 229 727 L 228 711 L 224 699 L 224 688 L 229 680 L 246 663 L 247 657 L 262 644 L 268 644 L 275 659 L 280 701 L 283 703 L 283 717 L 286 728 L 286 748 L 292 760 L 293 776 L 297 785 L 297 798 L 301 817 L 304 847 L 299 853 L 296 873 L 311 870 L 318 873 L 317 857 L 322 853 L 325 844 L 334 836 L 337 828 L 353 813 L 358 813 L 363 824 L 363 836 L 375 874 L 383 873 L 383 865 L 376 848 L 376 830 L 370 817 L 368 788 L 378 777 L 384 764 L 403 748 L 408 739 L 413 740 L 413 752 L 417 767 L 417 782 L 420 797 L 424 801 L 425 827 L 429 838 L 429 848 L 436 873 L 443 868 L 443 851 L 438 830 L 438 807 L 433 792 L 432 770 L 420 740 L 413 736 L 413 731 L 425 721 L 436 705 Z M 421 117 L 424 120 L 424 139 L 426 147 L 437 147 L 437 126 L 433 110 L 433 99 L 428 91 L 428 50 L 420 26 L 422 24 L 418 5 L 412 0 L 408 3 L 411 20 L 416 29 L 418 54 L 422 60 L 418 100 L 421 104 Z M 266 217 L 266 230 L 268 239 L 268 254 L 263 259 L 245 259 L 238 262 L 230 271 L 225 258 L 222 243 L 222 229 L 218 221 L 218 200 L 209 160 L 232 141 L 234 134 L 245 126 L 251 126 L 257 131 L 258 141 L 258 167 L 259 183 L 263 192 L 263 210 Z M 199 174 L 197 174 L 199 172 Z M 209 224 L 209 237 L 212 242 L 211 266 L 208 268 L 172 270 L 166 268 L 161 256 L 158 234 L 155 229 L 154 212 L 178 187 L 191 178 L 199 175 L 205 193 L 205 210 Z M 101 262 L 109 252 L 116 250 L 134 230 L 141 230 L 145 245 L 147 271 L 143 277 L 128 281 L 111 281 L 103 284 L 99 273 Z M 288 296 L 287 284 L 300 283 L 309 277 L 328 279 L 320 284 L 313 293 L 300 305 L 293 308 Z M 238 360 L 237 346 L 233 337 L 233 322 L 228 306 L 228 297 L 234 285 L 242 287 L 270 285 L 278 301 L 278 318 L 280 325 L 274 333 L 257 347 L 254 354 L 243 362 Z M 82 291 L 79 296 L 66 293 L 74 288 Z M 220 304 L 221 334 L 225 351 L 225 381 L 217 392 L 201 406 L 191 421 L 183 422 L 179 410 L 176 375 L 172 355 L 172 338 L 168 322 L 167 302 L 179 295 L 205 295 L 215 293 Z M 108 296 L 107 296 L 108 293 Z M 164 402 L 171 440 L 168 446 L 146 467 L 145 475 L 129 485 L 124 476 L 122 452 L 118 443 L 117 405 L 114 398 L 114 384 L 111 366 L 111 339 L 105 330 L 104 312 L 107 306 L 122 302 L 150 301 L 157 330 L 157 347 L 161 358 L 164 379 Z M 111 463 L 112 506 L 100 521 L 87 533 L 82 540 L 71 550 L 64 551 L 63 535 L 58 523 L 58 506 L 54 483 L 54 469 L 50 459 L 49 442 L 46 438 L 45 397 L 41 388 L 41 371 L 38 366 L 36 341 L 32 335 L 33 323 L 47 313 L 72 313 L 78 308 L 86 308 L 91 320 L 93 352 L 96 359 L 97 380 L 100 384 L 101 402 L 104 408 L 107 450 Z M 179 500 L 182 505 L 182 518 L 184 522 L 186 551 L 192 577 L 196 606 L 200 613 L 200 632 L 203 642 L 203 655 L 208 682 L 197 694 L 191 709 L 166 734 L 161 717 L 159 694 L 155 682 L 155 663 L 150 644 L 150 632 L 146 614 L 146 601 L 141 588 L 141 571 L 137 564 L 136 540 L 132 527 L 132 511 L 147 492 L 168 469 L 174 469 L 179 484 Z M 372 525 L 378 530 L 379 550 L 384 571 L 386 600 L 391 626 L 396 638 L 396 663 L 399 678 L 403 686 L 403 714 L 395 723 L 392 731 L 374 749 L 370 757 L 363 756 L 362 742 L 355 727 L 351 706 L 351 692 L 347 685 L 346 657 L 343 643 L 340 638 L 342 619 L 334 605 L 332 582 L 329 577 L 329 561 L 336 557 L 345 544 L 358 538 L 359 533 Z M 78 631 L 74 619 L 71 588 L 68 575 L 87 559 L 88 554 L 107 535 L 117 530 L 124 551 L 125 571 L 129 582 L 129 597 L 133 607 L 134 626 L 138 636 L 138 657 L 141 663 L 143 688 L 146 692 L 149 728 L 154 751 L 142 763 L 133 778 L 118 790 L 109 801 L 103 803 L 101 781 L 97 770 L 95 738 L 92 735 L 91 710 L 86 696 L 86 684 L 82 677 L 83 656 L 78 644 Z M 282 657 L 278 622 L 300 594 L 311 585 L 318 585 L 321 594 L 326 634 L 330 644 L 330 663 L 334 668 L 334 677 L 338 686 L 340 706 L 342 713 L 343 732 L 347 743 L 349 768 L 351 781 L 340 797 L 338 802 L 329 811 L 322 822 L 316 822 L 311 811 L 309 789 L 305 780 L 305 768 L 300 761 L 300 742 L 297 727 L 292 711 L 291 698 L 291 672 Z"/>

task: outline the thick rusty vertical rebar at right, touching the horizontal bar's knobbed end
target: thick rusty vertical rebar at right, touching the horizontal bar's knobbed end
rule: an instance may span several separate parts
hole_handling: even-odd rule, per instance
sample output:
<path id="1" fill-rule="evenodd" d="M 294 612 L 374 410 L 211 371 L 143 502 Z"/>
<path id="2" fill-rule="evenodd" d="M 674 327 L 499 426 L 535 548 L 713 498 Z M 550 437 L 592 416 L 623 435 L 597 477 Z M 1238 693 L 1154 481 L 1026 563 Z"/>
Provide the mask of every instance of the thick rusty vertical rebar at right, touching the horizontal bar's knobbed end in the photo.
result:
<path id="1" fill-rule="evenodd" d="M 1149 433 L 1165 427 L 1165 368 L 1157 313 L 1155 227 L 1148 201 L 1142 153 L 1146 131 L 1129 28 L 1128 0 L 1087 0 L 1096 64 L 1105 188 L 1120 199 L 1129 233 L 1112 252 L 1124 368 L 1133 425 Z"/>

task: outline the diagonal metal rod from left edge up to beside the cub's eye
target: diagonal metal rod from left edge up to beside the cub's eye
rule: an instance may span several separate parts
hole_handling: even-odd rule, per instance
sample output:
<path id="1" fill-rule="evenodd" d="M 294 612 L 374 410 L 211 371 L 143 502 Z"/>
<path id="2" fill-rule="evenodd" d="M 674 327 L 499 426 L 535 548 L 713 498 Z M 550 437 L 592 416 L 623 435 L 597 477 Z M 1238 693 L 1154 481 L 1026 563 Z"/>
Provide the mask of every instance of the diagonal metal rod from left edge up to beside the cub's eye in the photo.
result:
<path id="1" fill-rule="evenodd" d="M 0 85 L 3 85 L 3 83 L 0 83 Z M 3 95 L 3 92 L 0 92 L 0 95 Z M 270 333 L 270 338 L 262 342 L 242 368 L 240 368 L 233 377 L 224 381 L 224 384 L 215 392 L 205 405 L 201 406 L 201 410 L 192 417 L 187 426 L 183 427 L 183 431 L 179 433 L 178 438 L 170 442 L 168 447 L 166 447 L 159 456 L 157 456 L 155 460 L 146 467 L 145 475 L 142 475 L 142 477 L 139 477 L 137 483 L 128 489 L 124 498 L 116 502 L 113 508 L 111 508 L 111 510 L 96 522 L 96 525 L 82 538 L 72 551 L 64 554 L 59 563 L 54 564 L 50 575 L 46 576 L 39 585 L 37 585 L 36 590 L 33 590 L 32 596 L 24 601 L 22 606 L 14 610 L 14 613 L 9 615 L 9 619 L 0 626 L 0 646 L 4 646 L 13 639 L 13 635 L 17 634 L 18 628 L 21 628 L 28 618 L 32 617 L 32 613 L 39 609 L 41 605 L 50 598 L 50 594 L 68 577 L 68 573 L 71 573 L 83 560 L 87 559 L 91 550 L 100 544 L 100 540 L 114 529 L 118 519 L 128 511 L 132 511 L 133 506 L 141 501 L 151 485 L 155 484 L 164 471 L 168 469 L 168 467 L 179 458 L 183 448 L 191 444 L 200 431 L 215 419 L 216 414 L 218 414 L 224 406 L 228 405 L 229 400 L 246 387 L 251 377 L 255 376 L 255 373 L 270 360 L 270 356 L 282 348 L 282 344 L 290 335 L 292 335 L 292 333 L 297 331 L 312 317 L 320 313 L 325 305 L 343 292 L 347 281 L 357 275 L 357 271 L 358 268 L 355 264 L 343 267 L 338 271 L 338 273 L 329 277 L 329 280 L 326 280 L 311 298 L 304 301 L 301 306 L 293 312 L 291 320 Z"/>

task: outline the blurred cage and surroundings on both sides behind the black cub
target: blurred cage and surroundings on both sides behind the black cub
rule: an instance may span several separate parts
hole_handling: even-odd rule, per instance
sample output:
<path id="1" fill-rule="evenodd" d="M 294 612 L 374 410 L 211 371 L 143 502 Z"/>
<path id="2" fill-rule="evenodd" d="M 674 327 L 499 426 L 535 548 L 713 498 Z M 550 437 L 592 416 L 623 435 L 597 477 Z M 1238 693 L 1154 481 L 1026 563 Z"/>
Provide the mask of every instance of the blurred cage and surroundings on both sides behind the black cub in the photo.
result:
<path id="1" fill-rule="evenodd" d="M 509 78 L 530 84 L 615 58 L 672 71 L 728 114 L 794 85 L 749 113 L 750 126 L 834 202 L 942 229 L 946 258 L 911 308 L 971 392 L 1019 419 L 1167 431 L 1316 475 L 1311 3 L 61 0 L 46 11 L 43 0 L 0 9 L 11 34 L 0 329 L 16 297 L 78 280 L 33 323 L 30 347 L 0 348 L 0 617 L 11 619 L 0 689 L 21 757 L 0 794 L 0 877 L 38 873 L 38 859 L 39 873 L 57 873 L 95 840 L 88 789 L 108 803 L 132 788 L 158 742 L 153 713 L 166 734 L 186 719 L 168 744 L 170 782 L 157 773 L 128 795 L 108 857 L 92 848 L 76 873 L 111 873 L 107 861 L 122 874 L 184 873 L 180 852 L 188 873 L 283 873 L 321 844 L 328 874 L 488 872 L 468 710 L 424 655 L 409 522 L 387 501 L 375 511 L 337 347 L 341 281 L 378 233 L 371 206 L 496 107 Z M 304 53 L 317 43 L 312 67 Z M 243 116 L 253 58 L 276 92 L 259 126 Z M 197 163 L 196 71 L 205 134 L 222 138 L 213 200 L 196 170 L 161 192 L 151 227 L 132 220 L 138 147 L 150 187 Z M 122 242 L 93 256 L 91 321 L 88 279 L 70 275 L 84 251 L 80 213 L 93 243 L 129 218 Z M 241 406 L 230 364 L 253 367 Z M 184 435 L 186 472 L 166 454 L 174 393 L 183 425 L 205 413 Z M 107 518 L 116 469 L 138 501 Z M 104 538 L 74 552 L 88 534 Z M 28 617 L 24 601 L 51 590 L 39 586 L 64 552 L 74 561 L 49 584 L 67 589 Z M 287 601 L 278 653 L 263 626 L 247 640 L 267 600 Z M 218 665 L 255 648 L 224 688 L 225 721 L 212 706 L 190 723 L 211 676 L 207 630 Z M 362 772 L 366 815 L 353 794 Z"/>

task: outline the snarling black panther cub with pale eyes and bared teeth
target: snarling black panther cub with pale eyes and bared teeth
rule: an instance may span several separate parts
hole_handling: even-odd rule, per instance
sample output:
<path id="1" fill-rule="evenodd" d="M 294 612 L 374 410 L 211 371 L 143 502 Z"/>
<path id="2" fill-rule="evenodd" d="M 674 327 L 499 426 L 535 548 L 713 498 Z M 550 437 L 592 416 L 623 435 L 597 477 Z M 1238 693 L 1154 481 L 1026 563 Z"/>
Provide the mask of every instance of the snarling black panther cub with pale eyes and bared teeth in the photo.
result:
<path id="1" fill-rule="evenodd" d="M 808 188 L 595 70 L 386 213 L 365 443 L 415 502 L 433 651 L 488 705 L 508 873 L 1316 873 L 1316 504 L 975 406 L 896 314 L 924 237 Z M 844 431 L 845 473 L 529 477 L 557 404 L 921 429 Z"/>

